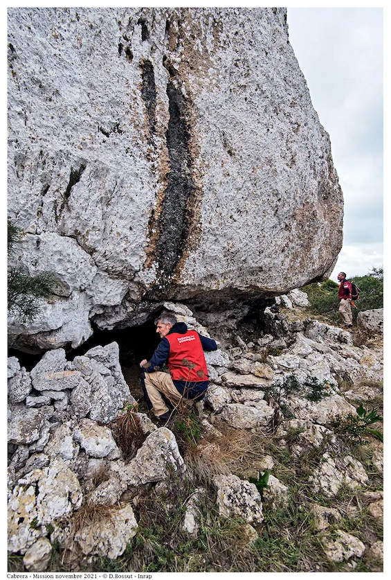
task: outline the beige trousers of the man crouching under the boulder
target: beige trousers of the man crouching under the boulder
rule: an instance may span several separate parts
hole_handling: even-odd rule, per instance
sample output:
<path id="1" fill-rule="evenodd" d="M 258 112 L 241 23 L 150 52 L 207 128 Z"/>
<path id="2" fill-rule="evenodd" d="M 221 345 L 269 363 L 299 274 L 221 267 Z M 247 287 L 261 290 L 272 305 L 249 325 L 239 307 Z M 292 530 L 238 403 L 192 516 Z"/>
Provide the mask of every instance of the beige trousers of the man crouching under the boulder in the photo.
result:
<path id="1" fill-rule="evenodd" d="M 145 373 L 145 389 L 149 400 L 152 403 L 152 411 L 156 417 L 167 413 L 168 407 L 164 402 L 161 393 L 176 407 L 180 402 L 185 407 L 192 406 L 190 399 L 184 398 L 179 391 L 176 390 L 172 382 L 171 375 L 163 371 L 155 371 L 154 373 Z"/>

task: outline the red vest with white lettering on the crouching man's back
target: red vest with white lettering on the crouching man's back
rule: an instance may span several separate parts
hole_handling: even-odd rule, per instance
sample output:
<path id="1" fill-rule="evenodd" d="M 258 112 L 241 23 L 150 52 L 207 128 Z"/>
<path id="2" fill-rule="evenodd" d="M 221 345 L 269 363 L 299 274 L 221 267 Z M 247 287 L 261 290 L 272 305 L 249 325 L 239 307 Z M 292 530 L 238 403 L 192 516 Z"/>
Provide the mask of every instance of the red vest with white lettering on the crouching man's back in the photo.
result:
<path id="1" fill-rule="evenodd" d="M 166 338 L 170 342 L 167 367 L 173 380 L 199 382 L 209 379 L 201 340 L 196 331 L 170 333 Z"/>

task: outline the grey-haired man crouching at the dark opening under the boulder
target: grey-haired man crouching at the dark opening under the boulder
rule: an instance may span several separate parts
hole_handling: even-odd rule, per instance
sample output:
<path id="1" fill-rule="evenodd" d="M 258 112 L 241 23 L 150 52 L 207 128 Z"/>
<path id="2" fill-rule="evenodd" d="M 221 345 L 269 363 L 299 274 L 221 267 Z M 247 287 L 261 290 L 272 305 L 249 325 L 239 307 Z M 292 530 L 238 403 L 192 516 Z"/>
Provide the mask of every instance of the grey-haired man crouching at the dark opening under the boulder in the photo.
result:
<path id="1" fill-rule="evenodd" d="M 147 405 L 159 421 L 165 423 L 170 419 L 170 410 L 161 394 L 174 405 L 183 397 L 201 401 L 209 384 L 203 351 L 216 351 L 217 344 L 196 331 L 189 331 L 185 323 L 177 322 L 171 313 L 158 317 L 155 324 L 161 342 L 151 360 L 142 360 L 140 367 Z M 170 373 L 160 370 L 164 363 Z"/>

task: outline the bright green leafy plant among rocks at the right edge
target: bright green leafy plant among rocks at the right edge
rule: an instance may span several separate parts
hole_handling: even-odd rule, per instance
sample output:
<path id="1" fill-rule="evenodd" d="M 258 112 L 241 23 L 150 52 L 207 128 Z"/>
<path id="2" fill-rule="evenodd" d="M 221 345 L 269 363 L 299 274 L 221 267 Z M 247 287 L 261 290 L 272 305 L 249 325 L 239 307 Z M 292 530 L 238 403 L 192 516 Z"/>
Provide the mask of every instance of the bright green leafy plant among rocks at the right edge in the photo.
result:
<path id="1" fill-rule="evenodd" d="M 364 439 L 367 435 L 372 435 L 383 441 L 383 434 L 370 428 L 369 425 L 383 421 L 383 417 L 379 416 L 375 409 L 367 411 L 364 409 L 362 403 L 356 409 L 356 415 L 347 415 L 345 418 L 331 421 L 330 428 L 338 435 L 347 435 L 351 441 L 366 445 L 367 440 Z"/>

